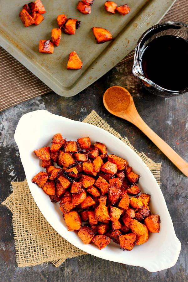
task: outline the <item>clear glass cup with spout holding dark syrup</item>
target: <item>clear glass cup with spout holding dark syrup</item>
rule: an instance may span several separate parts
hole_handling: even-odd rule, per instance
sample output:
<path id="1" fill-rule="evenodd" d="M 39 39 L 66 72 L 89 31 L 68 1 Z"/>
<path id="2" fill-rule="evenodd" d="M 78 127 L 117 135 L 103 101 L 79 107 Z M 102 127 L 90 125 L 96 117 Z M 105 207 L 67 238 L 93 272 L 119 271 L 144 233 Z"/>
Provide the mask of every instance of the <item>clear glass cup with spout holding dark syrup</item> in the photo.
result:
<path id="1" fill-rule="evenodd" d="M 156 24 L 136 45 L 133 75 L 151 93 L 174 97 L 188 92 L 188 25 Z"/>

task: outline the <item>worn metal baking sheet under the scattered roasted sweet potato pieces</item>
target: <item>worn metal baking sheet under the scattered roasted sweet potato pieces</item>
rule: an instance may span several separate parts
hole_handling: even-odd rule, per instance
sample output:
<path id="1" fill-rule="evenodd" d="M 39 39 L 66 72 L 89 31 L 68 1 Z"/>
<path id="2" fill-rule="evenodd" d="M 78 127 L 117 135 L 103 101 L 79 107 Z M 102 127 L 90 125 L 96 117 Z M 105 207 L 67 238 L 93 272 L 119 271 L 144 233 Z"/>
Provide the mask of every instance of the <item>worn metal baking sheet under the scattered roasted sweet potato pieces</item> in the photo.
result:
<path id="1" fill-rule="evenodd" d="M 61 96 L 73 96 L 96 81 L 122 60 L 136 45 L 139 36 L 156 24 L 175 2 L 174 0 L 129 0 L 131 12 L 126 16 L 112 15 L 104 9 L 104 0 L 95 0 L 90 15 L 77 11 L 75 0 L 43 0 L 46 13 L 38 26 L 25 28 L 18 14 L 25 0 L 1 0 L 0 45 Z M 165 2 L 165 3 L 164 3 Z M 118 5 L 124 0 L 118 0 Z M 62 34 L 54 54 L 38 51 L 40 39 L 50 39 L 51 29 L 58 27 L 59 14 L 81 21 L 75 35 Z M 114 40 L 96 44 L 91 28 L 104 27 Z M 71 51 L 83 61 L 81 70 L 67 70 Z"/>

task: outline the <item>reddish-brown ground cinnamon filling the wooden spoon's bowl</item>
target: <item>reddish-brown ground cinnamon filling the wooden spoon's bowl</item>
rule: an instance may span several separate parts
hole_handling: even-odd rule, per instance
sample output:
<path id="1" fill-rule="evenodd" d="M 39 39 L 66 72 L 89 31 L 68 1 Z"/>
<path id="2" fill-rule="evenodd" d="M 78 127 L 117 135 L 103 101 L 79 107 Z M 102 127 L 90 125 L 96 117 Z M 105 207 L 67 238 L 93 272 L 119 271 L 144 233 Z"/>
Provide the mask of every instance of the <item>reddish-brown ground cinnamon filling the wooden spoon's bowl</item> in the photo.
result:
<path id="1" fill-rule="evenodd" d="M 106 91 L 105 102 L 109 110 L 121 112 L 127 109 L 130 103 L 130 95 L 121 87 L 112 86 Z"/>

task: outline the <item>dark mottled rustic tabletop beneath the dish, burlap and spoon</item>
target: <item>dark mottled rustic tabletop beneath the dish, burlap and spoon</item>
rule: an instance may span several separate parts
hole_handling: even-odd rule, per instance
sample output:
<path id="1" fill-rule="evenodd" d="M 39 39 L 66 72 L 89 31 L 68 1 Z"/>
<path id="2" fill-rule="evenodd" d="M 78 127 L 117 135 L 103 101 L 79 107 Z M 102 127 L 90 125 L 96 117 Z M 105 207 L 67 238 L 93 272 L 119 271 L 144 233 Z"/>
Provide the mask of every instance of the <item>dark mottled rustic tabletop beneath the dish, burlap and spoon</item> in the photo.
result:
<path id="1" fill-rule="evenodd" d="M 46 109 L 67 118 L 82 120 L 91 110 L 104 118 L 121 135 L 128 137 L 139 151 L 155 162 L 162 162 L 161 190 L 165 196 L 177 237 L 182 247 L 174 267 L 149 273 L 140 267 L 118 264 L 91 255 L 67 259 L 59 268 L 52 264 L 18 268 L 15 260 L 12 215 L 0 205 L 0 281 L 187 281 L 187 178 L 132 124 L 113 117 L 102 105 L 104 91 L 113 85 L 124 86 L 132 93 L 144 121 L 186 161 L 188 132 L 188 96 L 161 98 L 151 96 L 132 75 L 132 61 L 108 72 L 75 97 L 54 93 L 34 98 L 0 113 L 0 200 L 11 193 L 12 180 L 24 180 L 14 131 L 19 118 L 27 112 Z M 24 132 L 23 132 L 24 134 Z M 151 187 L 152 189 L 152 187 Z M 159 203 L 160 204 L 160 203 Z M 152 250 L 151 250 L 152 252 Z"/>

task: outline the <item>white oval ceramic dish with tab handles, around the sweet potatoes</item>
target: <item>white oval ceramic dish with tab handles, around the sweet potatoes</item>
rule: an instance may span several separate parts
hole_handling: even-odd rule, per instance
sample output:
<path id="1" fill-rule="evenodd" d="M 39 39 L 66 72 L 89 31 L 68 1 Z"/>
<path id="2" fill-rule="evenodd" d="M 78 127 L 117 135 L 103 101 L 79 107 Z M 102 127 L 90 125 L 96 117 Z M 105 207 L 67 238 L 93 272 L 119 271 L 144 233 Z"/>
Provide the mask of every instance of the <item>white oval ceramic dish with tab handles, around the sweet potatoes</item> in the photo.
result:
<path id="1" fill-rule="evenodd" d="M 77 140 L 77 138 L 88 136 L 92 143 L 99 141 L 106 144 L 109 154 L 113 153 L 128 160 L 133 171 L 141 175 L 139 179 L 141 191 L 151 194 L 150 209 L 153 214 L 160 215 L 160 232 L 150 233 L 148 242 L 140 246 L 135 245 L 132 251 L 123 252 L 115 243 L 110 243 L 102 250 L 94 244 L 85 245 L 76 232 L 68 231 L 59 203 L 52 203 L 49 196 L 31 182 L 33 176 L 39 171 L 45 171 L 33 151 L 50 146 L 52 137 L 56 133 L 62 133 L 67 140 Z M 31 194 L 46 220 L 63 238 L 86 253 L 110 261 L 141 266 L 150 272 L 175 265 L 180 254 L 181 243 L 175 235 L 164 196 L 149 168 L 126 144 L 101 128 L 57 116 L 45 110 L 23 115 L 18 122 L 14 139 L 18 145 Z"/>

